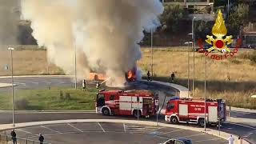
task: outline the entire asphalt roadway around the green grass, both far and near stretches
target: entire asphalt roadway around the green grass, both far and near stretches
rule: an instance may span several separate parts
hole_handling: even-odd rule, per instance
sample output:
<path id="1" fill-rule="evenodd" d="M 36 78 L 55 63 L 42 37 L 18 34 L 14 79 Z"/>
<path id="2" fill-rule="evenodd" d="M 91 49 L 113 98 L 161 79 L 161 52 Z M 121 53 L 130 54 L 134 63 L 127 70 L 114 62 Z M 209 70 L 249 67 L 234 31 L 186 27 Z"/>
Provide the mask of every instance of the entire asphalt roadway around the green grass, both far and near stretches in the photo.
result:
<path id="1" fill-rule="evenodd" d="M 10 78 L 0 79 L 2 83 L 10 83 Z M 15 90 L 31 90 L 31 89 L 46 89 L 49 86 L 62 86 L 70 87 L 74 86 L 74 82 L 70 78 L 15 78 L 14 82 L 17 84 Z M 81 83 L 81 82 L 80 82 Z M 94 85 L 94 82 L 88 82 L 90 85 Z M 79 86 L 79 85 L 78 85 Z M 177 90 L 172 89 L 168 86 L 156 85 L 150 82 L 134 82 L 130 84 L 126 89 L 145 89 L 145 90 L 158 90 L 160 94 L 165 96 L 177 94 Z M 9 92 L 10 87 L 0 88 L 0 92 Z M 160 97 L 161 103 L 163 102 L 164 96 Z M 234 118 L 253 118 L 256 119 L 255 113 L 244 113 L 239 111 L 231 111 L 231 117 Z M 86 113 L 23 113 L 15 114 L 16 122 L 38 122 L 38 121 L 49 121 L 49 120 L 61 120 L 61 119 L 86 119 L 86 118 L 106 118 L 100 114 L 86 114 Z M 0 124 L 11 123 L 11 114 L 2 112 L 0 113 Z M 134 119 L 132 117 L 108 117 L 108 118 L 122 118 L 122 119 Z M 163 119 L 163 118 L 160 118 Z M 147 119 L 142 119 L 147 120 Z M 151 118 L 150 120 L 155 120 Z M 161 120 L 163 122 L 163 120 Z M 252 123 L 225 123 L 222 127 L 223 131 L 231 134 L 241 135 L 244 138 L 249 139 L 251 142 L 256 143 L 256 126 L 255 122 Z"/>

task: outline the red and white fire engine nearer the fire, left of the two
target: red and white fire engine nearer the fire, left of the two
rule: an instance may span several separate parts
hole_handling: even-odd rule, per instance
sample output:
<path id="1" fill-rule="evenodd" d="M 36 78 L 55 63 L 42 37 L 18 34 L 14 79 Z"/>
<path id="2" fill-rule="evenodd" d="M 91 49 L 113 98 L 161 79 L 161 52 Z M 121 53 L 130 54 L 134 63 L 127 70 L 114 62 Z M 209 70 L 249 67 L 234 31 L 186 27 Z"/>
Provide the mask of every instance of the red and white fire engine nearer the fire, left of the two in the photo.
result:
<path id="1" fill-rule="evenodd" d="M 95 105 L 96 113 L 104 115 L 150 117 L 158 110 L 158 93 L 150 90 L 100 90 Z"/>

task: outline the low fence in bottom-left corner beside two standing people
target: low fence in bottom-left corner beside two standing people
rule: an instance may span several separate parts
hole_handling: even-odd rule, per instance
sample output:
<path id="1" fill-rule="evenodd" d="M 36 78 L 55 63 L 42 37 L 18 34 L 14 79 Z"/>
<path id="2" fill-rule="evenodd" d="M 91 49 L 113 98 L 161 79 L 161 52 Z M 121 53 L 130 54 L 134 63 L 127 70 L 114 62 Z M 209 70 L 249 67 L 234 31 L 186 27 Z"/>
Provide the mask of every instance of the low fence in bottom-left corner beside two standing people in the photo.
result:
<path id="1" fill-rule="evenodd" d="M 0 144 L 10 144 L 13 140 L 10 136 L 0 134 Z M 40 144 L 38 141 L 30 140 L 27 138 L 17 138 L 17 144 Z M 43 142 L 43 144 L 50 144 Z"/>

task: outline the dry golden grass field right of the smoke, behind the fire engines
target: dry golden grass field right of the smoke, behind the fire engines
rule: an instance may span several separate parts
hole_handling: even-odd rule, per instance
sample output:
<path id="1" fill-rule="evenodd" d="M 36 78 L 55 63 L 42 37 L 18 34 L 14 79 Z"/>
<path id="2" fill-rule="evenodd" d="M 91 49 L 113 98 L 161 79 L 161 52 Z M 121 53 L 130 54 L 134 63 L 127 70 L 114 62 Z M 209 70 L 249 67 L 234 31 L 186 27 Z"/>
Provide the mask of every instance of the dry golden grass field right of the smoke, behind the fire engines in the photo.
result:
<path id="1" fill-rule="evenodd" d="M 142 49 L 143 58 L 138 62 L 143 74 L 150 70 L 151 52 L 149 48 Z M 250 98 L 256 94 L 256 63 L 250 61 L 253 51 L 240 50 L 232 59 L 214 61 L 207 58 L 206 85 L 208 98 L 224 98 L 231 106 L 256 109 L 256 99 Z M 254 52 L 255 54 L 255 52 Z M 174 48 L 154 48 L 155 79 L 168 81 L 170 72 L 175 72 L 178 83 L 187 86 L 188 51 Z M 204 62 L 203 54 L 195 53 L 194 96 L 204 95 Z M 190 52 L 190 79 L 192 79 L 193 52 Z M 230 80 L 228 80 L 228 76 Z M 192 86 L 192 83 L 190 83 Z M 190 89 L 191 90 L 191 89 Z"/>

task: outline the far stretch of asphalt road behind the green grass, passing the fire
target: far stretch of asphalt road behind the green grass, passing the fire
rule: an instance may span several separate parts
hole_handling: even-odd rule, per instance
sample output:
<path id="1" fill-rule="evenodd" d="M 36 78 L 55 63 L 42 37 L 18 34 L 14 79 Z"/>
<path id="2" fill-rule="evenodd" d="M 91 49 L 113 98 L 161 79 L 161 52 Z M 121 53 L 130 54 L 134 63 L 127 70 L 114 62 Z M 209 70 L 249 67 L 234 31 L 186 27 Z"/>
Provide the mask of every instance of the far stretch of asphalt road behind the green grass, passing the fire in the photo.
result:
<path id="1" fill-rule="evenodd" d="M 11 83 L 10 78 L 0 79 L 0 83 Z M 86 82 L 88 85 L 96 86 L 96 82 Z M 74 82 L 71 78 L 14 78 L 15 90 L 47 89 L 50 87 L 72 87 Z M 78 82 L 82 86 L 82 82 Z M 104 87 L 104 86 L 103 86 Z M 158 85 L 150 82 L 130 82 L 124 89 L 161 90 L 168 94 L 176 94 L 178 90 L 169 86 Z M 10 92 L 11 87 L 0 88 L 0 92 Z"/>

